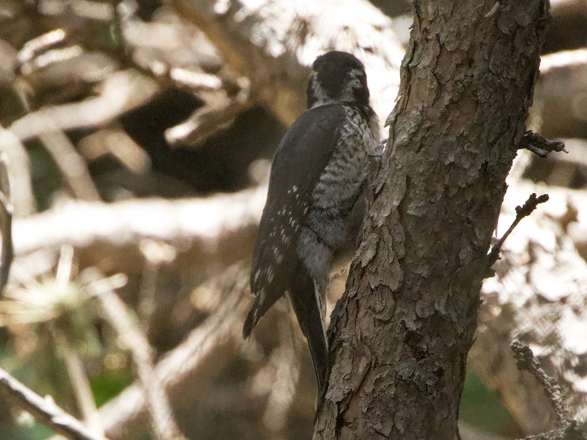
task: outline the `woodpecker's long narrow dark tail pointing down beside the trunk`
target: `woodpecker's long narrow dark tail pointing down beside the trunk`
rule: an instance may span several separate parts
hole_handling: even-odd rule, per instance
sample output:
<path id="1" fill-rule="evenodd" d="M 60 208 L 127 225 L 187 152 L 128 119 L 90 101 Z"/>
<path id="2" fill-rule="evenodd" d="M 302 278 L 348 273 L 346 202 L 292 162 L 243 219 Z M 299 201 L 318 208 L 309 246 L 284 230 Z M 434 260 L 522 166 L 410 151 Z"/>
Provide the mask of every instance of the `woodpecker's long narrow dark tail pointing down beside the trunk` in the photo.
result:
<path id="1" fill-rule="evenodd" d="M 323 301 L 318 285 L 311 276 L 307 273 L 300 274 L 297 281 L 295 288 L 292 288 L 289 293 L 289 298 L 294 306 L 302 333 L 308 340 L 316 382 L 318 383 L 317 408 L 319 409 L 326 393 L 326 384 L 330 373 L 328 341 L 326 340 L 324 313 L 322 312 Z"/>

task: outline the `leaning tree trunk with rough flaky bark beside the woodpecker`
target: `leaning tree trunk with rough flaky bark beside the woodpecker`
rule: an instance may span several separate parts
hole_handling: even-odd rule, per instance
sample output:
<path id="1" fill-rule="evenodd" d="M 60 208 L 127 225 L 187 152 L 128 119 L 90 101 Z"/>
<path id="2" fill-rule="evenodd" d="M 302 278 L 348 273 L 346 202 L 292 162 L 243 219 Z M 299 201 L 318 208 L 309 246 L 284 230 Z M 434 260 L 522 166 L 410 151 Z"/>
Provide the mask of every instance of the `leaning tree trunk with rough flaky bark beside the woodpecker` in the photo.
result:
<path id="1" fill-rule="evenodd" d="M 315 438 L 453 439 L 548 2 L 417 2 Z"/>

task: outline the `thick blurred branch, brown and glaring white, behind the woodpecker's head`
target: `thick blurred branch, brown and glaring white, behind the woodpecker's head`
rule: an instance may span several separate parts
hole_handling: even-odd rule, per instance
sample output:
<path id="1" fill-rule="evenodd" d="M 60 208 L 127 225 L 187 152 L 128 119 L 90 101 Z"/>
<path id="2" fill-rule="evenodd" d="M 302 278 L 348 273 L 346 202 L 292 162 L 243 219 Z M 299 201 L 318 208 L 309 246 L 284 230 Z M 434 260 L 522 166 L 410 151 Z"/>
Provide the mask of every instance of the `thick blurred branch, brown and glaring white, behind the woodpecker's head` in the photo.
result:
<path id="1" fill-rule="evenodd" d="M 175 0 L 182 18 L 202 29 L 252 96 L 285 124 L 306 108 L 309 65 L 327 50 L 351 52 L 365 63 L 373 108 L 385 120 L 397 95 L 404 50 L 392 21 L 367 1 L 246 2 Z"/>

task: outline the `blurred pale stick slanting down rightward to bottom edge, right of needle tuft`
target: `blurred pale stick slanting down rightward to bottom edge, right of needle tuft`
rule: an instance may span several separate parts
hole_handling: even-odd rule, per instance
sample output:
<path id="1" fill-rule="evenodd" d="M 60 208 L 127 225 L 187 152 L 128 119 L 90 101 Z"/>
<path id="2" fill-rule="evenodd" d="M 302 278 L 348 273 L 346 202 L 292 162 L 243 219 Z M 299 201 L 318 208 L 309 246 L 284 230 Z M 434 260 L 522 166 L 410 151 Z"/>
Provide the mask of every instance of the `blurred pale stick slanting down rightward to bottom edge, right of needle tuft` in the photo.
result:
<path id="1" fill-rule="evenodd" d="M 185 439 L 173 418 L 167 394 L 153 368 L 153 350 L 146 337 L 129 318 L 126 306 L 112 290 L 97 295 L 104 317 L 129 348 L 151 415 L 151 427 L 158 440 Z"/>

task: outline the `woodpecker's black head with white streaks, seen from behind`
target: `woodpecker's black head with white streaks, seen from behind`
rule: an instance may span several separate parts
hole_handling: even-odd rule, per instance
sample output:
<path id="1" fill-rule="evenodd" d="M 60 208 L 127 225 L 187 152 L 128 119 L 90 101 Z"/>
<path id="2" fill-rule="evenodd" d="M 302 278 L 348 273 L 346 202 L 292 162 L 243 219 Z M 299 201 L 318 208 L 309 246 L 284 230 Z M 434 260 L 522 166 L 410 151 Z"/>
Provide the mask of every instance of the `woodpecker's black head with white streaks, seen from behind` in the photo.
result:
<path id="1" fill-rule="evenodd" d="M 308 82 L 308 109 L 342 101 L 358 106 L 369 105 L 365 66 L 347 52 L 333 50 L 312 64 Z"/>

